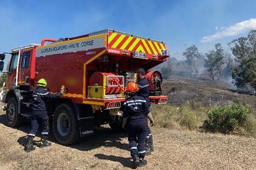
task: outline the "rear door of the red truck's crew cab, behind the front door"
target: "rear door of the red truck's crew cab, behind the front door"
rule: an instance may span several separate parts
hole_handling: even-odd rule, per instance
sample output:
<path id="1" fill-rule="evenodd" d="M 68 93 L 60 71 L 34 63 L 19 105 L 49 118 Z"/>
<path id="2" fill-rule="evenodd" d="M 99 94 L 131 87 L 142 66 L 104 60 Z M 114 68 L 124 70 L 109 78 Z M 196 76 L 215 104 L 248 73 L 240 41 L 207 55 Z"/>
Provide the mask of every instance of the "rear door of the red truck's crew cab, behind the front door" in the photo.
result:
<path id="1" fill-rule="evenodd" d="M 31 51 L 24 51 L 20 58 L 18 83 L 20 85 L 29 85 Z"/>

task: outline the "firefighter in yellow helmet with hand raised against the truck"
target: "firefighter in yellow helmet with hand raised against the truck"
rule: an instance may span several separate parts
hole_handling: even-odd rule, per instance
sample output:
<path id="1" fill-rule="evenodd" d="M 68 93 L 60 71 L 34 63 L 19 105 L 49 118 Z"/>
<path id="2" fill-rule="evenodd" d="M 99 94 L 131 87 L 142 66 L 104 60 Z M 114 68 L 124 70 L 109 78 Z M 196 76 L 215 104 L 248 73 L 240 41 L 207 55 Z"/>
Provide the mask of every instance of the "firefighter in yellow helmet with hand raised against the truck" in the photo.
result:
<path id="1" fill-rule="evenodd" d="M 47 82 L 45 79 L 39 79 L 37 88 L 35 91 L 33 91 L 32 99 L 30 100 L 30 103 L 26 105 L 32 109 L 32 129 L 30 130 L 27 138 L 28 141 L 25 147 L 26 152 L 35 150 L 35 147 L 33 146 L 33 139 L 38 130 L 38 122 L 41 122 L 42 124 L 41 141 L 38 144 L 38 147 L 47 147 L 51 145 L 50 142 L 47 142 L 47 136 L 49 132 L 49 118 L 47 116 L 44 100 L 60 97 L 64 92 L 65 87 L 61 86 L 61 91 L 59 93 L 51 94 L 46 89 L 44 89 L 46 85 Z"/>

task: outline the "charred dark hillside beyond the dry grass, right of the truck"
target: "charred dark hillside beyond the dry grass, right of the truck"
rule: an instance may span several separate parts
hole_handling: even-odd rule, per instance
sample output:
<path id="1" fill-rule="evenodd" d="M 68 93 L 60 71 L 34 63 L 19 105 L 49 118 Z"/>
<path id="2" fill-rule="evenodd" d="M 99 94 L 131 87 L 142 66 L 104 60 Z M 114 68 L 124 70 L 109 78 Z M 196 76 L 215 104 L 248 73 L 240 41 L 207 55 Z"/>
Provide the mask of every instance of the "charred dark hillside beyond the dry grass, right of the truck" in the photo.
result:
<path id="1" fill-rule="evenodd" d="M 224 80 L 171 77 L 164 81 L 163 88 L 163 94 L 169 96 L 168 103 L 178 107 L 187 100 L 195 99 L 207 107 L 242 102 L 256 109 L 255 95 L 240 94 L 231 83 Z"/>

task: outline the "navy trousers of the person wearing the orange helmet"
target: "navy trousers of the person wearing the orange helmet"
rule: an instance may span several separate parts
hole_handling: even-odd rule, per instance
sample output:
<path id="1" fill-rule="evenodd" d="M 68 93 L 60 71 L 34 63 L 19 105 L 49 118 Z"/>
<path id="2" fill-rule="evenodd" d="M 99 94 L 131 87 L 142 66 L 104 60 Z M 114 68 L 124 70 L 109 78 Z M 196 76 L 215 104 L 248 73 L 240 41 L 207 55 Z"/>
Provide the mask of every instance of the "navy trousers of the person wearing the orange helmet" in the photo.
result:
<path id="1" fill-rule="evenodd" d="M 127 130 L 131 156 L 145 156 L 145 140 L 148 132 L 146 120 L 128 122 Z"/>

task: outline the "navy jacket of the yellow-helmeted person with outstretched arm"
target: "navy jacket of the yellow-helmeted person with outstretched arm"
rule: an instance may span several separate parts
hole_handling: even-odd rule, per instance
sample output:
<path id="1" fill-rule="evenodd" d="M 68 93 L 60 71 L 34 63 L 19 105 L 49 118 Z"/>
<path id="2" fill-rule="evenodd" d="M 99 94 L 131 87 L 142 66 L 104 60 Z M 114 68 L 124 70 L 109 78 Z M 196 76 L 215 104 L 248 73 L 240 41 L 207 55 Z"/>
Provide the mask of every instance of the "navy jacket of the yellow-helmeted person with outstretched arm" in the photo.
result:
<path id="1" fill-rule="evenodd" d="M 45 90 L 44 88 L 37 88 L 35 91 L 33 91 L 33 96 L 31 99 L 31 108 L 32 112 L 38 112 L 38 111 L 46 111 L 45 99 L 54 99 L 61 96 L 61 92 L 56 94 L 51 94 L 49 91 Z"/>

